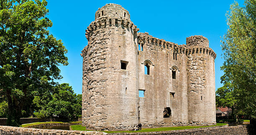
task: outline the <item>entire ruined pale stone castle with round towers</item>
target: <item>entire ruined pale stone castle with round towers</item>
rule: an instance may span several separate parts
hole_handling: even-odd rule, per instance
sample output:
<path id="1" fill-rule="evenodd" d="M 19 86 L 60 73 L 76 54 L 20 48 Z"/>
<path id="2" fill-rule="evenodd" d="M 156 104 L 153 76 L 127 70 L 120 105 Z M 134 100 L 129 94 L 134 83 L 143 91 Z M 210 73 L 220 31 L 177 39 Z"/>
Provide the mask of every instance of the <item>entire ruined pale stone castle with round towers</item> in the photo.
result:
<path id="1" fill-rule="evenodd" d="M 99 8 L 87 27 L 88 45 L 81 54 L 83 126 L 215 124 L 216 54 L 208 39 L 191 36 L 178 45 L 138 30 L 117 4 Z"/>

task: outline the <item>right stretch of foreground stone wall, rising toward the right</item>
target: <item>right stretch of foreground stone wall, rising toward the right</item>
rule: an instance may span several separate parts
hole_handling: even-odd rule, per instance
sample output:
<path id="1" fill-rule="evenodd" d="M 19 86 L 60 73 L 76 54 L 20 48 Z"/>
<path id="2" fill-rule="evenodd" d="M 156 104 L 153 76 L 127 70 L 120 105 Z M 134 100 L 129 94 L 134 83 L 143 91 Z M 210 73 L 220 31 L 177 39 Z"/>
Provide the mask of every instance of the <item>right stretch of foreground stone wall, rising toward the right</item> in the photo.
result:
<path id="1" fill-rule="evenodd" d="M 255 125 L 215 126 L 161 132 L 110 133 L 111 135 L 255 135 Z"/>

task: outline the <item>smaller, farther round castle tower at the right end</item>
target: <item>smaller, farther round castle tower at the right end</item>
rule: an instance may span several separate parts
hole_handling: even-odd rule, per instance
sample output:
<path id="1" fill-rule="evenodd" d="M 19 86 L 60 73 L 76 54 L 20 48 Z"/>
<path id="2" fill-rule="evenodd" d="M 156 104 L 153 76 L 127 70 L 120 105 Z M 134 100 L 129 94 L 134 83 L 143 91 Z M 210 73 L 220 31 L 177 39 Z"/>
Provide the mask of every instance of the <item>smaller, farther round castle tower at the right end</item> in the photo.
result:
<path id="1" fill-rule="evenodd" d="M 209 41 L 202 36 L 187 37 L 188 120 L 189 123 L 212 125 L 215 119 L 215 69 L 216 54 Z"/>

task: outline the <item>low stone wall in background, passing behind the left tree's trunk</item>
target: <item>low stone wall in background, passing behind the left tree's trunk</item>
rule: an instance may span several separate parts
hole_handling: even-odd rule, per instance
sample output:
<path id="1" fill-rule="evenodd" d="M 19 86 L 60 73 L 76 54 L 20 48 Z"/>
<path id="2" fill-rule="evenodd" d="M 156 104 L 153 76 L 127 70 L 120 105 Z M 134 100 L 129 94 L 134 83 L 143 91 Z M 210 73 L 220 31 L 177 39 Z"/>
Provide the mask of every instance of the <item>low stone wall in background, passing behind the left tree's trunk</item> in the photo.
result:
<path id="1" fill-rule="evenodd" d="M 81 121 L 79 118 L 73 119 L 73 120 L 67 120 L 63 118 L 20 118 L 20 123 L 21 124 L 26 124 L 26 123 L 36 123 L 36 122 L 46 122 L 46 121 L 62 121 L 62 122 L 68 122 L 68 121 Z M 7 118 L 0 118 L 0 125 L 6 125 Z"/>

